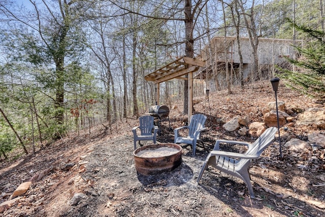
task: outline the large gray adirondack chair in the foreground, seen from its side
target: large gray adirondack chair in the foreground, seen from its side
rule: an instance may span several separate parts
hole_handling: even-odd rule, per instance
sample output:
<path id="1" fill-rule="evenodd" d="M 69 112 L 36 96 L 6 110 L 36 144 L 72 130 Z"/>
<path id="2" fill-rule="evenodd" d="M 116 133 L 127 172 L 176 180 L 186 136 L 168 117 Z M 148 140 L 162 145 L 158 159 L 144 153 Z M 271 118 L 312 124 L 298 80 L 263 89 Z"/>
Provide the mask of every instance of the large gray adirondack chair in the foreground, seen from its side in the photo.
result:
<path id="1" fill-rule="evenodd" d="M 197 182 L 200 181 L 202 174 L 208 168 L 208 165 L 211 165 L 222 172 L 242 179 L 247 185 L 250 197 L 255 198 L 253 187 L 250 182 L 250 175 L 248 171 L 249 166 L 252 159 L 257 159 L 264 149 L 272 143 L 276 132 L 277 128 L 268 128 L 253 144 L 231 140 L 217 140 L 213 150 L 209 153 L 206 161 L 203 164 Z M 220 151 L 220 143 L 247 145 L 248 149 L 245 153 Z"/>

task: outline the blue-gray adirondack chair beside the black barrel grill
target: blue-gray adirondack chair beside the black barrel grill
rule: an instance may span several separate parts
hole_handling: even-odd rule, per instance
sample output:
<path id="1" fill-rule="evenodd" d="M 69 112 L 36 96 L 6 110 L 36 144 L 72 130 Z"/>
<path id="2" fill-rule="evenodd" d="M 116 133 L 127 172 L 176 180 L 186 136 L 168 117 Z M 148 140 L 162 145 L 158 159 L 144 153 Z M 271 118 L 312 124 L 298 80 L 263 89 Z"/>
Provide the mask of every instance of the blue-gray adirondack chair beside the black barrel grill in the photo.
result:
<path id="1" fill-rule="evenodd" d="M 137 148 L 137 141 L 141 140 L 153 140 L 156 144 L 158 126 L 154 126 L 154 117 L 150 115 L 144 115 L 139 117 L 140 125 L 132 129 L 134 149 Z M 137 129 L 140 129 L 140 135 L 137 135 Z M 153 133 L 152 133 L 153 130 Z"/>

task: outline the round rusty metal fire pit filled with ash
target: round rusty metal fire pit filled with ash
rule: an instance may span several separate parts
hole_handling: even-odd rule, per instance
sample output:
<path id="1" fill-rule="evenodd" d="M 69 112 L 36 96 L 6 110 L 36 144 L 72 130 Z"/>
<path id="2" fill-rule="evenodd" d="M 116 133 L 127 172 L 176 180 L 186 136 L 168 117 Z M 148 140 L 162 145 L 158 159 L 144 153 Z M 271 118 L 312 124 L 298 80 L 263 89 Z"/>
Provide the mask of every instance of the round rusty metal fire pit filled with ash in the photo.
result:
<path id="1" fill-rule="evenodd" d="M 174 143 L 142 146 L 133 155 L 136 170 L 142 175 L 169 172 L 182 163 L 182 147 Z"/>

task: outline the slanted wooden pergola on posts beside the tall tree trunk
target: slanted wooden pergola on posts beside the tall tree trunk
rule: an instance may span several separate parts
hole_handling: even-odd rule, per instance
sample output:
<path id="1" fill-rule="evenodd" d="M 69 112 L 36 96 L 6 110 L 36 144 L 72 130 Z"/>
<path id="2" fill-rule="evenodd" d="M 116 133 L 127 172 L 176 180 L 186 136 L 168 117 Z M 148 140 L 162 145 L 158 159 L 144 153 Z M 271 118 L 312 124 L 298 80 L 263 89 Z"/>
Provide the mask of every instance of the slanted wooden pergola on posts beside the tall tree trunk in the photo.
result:
<path id="1" fill-rule="evenodd" d="M 182 56 L 170 64 L 146 75 L 146 81 L 153 81 L 157 84 L 157 105 L 159 105 L 160 83 L 169 81 L 174 78 L 188 80 L 188 121 L 192 115 L 193 104 L 193 72 L 199 70 L 200 67 L 205 67 L 205 61 Z M 187 77 L 185 77 L 187 75 Z"/>

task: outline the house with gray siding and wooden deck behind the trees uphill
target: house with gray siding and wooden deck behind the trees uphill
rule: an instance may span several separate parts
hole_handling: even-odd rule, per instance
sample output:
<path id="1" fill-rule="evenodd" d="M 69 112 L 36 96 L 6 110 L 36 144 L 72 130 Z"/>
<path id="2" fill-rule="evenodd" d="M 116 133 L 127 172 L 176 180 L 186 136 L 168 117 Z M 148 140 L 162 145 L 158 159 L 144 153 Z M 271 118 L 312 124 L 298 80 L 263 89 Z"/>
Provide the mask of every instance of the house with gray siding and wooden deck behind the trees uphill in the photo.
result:
<path id="1" fill-rule="evenodd" d="M 258 71 L 253 72 L 253 56 L 249 38 L 241 39 L 241 54 L 243 58 L 243 80 L 270 78 L 275 65 L 285 64 L 284 56 L 294 58 L 295 49 L 292 45 L 302 44 L 301 40 L 259 38 L 257 56 Z M 226 86 L 226 73 L 231 83 L 240 84 L 239 79 L 239 54 L 236 37 L 214 37 L 210 45 L 201 51 L 201 59 L 206 61 L 195 78 L 204 79 L 206 88 L 214 91 L 219 86 Z M 226 64 L 228 63 L 228 64 Z M 228 67 L 226 67 L 228 65 Z"/>

